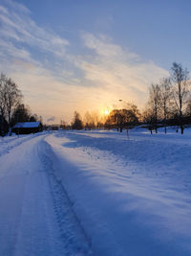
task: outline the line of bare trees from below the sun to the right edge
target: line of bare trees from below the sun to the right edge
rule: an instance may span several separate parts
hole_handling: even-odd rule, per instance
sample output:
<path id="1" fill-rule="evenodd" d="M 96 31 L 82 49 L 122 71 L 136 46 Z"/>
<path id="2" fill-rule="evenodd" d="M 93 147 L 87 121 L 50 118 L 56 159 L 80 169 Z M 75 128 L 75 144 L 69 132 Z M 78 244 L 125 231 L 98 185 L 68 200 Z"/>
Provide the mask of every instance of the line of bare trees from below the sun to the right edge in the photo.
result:
<path id="1" fill-rule="evenodd" d="M 144 128 L 158 132 L 163 127 L 166 133 L 167 126 L 176 126 L 183 129 L 191 125 L 191 93 L 189 72 L 180 63 L 174 62 L 170 76 L 162 78 L 158 83 L 149 86 L 149 96 L 145 109 L 140 113 L 137 105 L 126 104 L 125 108 L 113 109 L 105 120 L 98 115 L 80 114 L 74 112 L 74 120 L 67 128 L 133 128 L 141 125 Z"/>

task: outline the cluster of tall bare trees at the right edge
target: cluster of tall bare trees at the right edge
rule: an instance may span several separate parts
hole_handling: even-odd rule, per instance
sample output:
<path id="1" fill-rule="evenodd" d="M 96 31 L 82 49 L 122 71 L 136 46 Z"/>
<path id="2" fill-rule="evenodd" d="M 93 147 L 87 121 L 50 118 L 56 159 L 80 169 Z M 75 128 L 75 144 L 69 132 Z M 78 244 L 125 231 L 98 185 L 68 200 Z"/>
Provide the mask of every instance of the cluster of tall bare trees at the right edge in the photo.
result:
<path id="1" fill-rule="evenodd" d="M 151 84 L 149 99 L 142 119 L 156 132 L 160 126 L 179 126 L 181 134 L 186 125 L 191 124 L 191 94 L 189 72 L 181 64 L 174 62 L 170 77 Z"/>

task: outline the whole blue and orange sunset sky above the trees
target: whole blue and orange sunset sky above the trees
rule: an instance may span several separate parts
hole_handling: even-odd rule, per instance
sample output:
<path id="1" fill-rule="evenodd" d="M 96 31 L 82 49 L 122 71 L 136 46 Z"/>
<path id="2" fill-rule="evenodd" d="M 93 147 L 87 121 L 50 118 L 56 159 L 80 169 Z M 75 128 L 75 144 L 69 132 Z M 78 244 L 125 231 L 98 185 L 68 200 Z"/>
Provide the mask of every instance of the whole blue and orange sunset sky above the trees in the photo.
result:
<path id="1" fill-rule="evenodd" d="M 191 70 L 190 11 L 190 0 L 0 0 L 0 72 L 45 123 L 142 109 L 172 62 Z"/>

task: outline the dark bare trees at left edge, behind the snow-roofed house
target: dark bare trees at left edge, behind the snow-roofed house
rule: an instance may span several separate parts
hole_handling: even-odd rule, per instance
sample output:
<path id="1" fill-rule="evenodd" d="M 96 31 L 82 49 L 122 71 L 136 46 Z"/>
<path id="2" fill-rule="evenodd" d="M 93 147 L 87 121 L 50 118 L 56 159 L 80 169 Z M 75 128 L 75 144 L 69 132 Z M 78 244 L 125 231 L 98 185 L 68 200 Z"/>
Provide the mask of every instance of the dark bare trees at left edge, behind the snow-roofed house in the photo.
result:
<path id="1" fill-rule="evenodd" d="M 4 136 L 19 122 L 35 122 L 39 118 L 23 104 L 23 95 L 18 85 L 5 74 L 0 74 L 0 135 Z"/>

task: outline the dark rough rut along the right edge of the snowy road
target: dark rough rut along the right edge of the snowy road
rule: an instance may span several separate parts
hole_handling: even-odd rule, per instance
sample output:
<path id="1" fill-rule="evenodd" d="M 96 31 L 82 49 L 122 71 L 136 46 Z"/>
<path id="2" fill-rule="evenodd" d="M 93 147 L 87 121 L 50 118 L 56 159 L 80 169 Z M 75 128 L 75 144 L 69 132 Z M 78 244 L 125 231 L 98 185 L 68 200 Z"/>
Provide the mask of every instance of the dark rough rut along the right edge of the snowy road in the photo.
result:
<path id="1" fill-rule="evenodd" d="M 53 163 L 50 155 L 53 155 L 51 147 L 42 141 L 44 151 L 38 148 L 38 154 L 43 165 L 48 170 L 48 180 L 53 197 L 53 209 L 59 225 L 66 255 L 93 256 L 91 239 L 85 233 L 83 226 L 74 213 L 73 203 L 70 201 L 63 184 L 53 174 Z"/>

